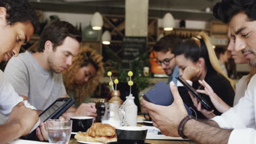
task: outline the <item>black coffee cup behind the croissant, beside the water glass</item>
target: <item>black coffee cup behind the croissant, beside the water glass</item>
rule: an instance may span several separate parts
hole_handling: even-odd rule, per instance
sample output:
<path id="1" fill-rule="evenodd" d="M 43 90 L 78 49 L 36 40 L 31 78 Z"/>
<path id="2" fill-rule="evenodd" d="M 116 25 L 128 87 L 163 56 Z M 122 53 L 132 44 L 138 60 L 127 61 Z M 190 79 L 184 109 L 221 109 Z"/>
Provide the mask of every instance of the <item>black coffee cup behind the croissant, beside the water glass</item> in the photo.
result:
<path id="1" fill-rule="evenodd" d="M 94 123 L 94 117 L 71 117 L 72 132 L 86 132 Z"/>

